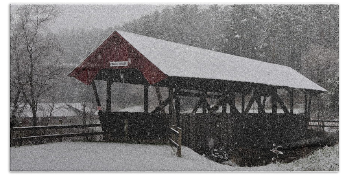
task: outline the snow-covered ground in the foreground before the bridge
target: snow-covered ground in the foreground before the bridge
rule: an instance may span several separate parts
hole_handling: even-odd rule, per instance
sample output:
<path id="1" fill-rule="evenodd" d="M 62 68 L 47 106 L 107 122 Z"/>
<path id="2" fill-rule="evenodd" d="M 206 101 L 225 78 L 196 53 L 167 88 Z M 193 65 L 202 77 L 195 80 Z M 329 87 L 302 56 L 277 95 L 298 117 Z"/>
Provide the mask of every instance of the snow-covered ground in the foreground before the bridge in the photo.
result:
<path id="1" fill-rule="evenodd" d="M 168 145 L 60 142 L 11 148 L 10 169 L 11 171 L 301 171 L 338 169 L 337 146 L 325 148 L 318 152 L 320 152 L 318 156 L 312 155 L 311 158 L 304 158 L 290 164 L 271 164 L 248 168 L 218 164 L 186 147 L 182 149 L 183 157 L 178 158 Z"/>

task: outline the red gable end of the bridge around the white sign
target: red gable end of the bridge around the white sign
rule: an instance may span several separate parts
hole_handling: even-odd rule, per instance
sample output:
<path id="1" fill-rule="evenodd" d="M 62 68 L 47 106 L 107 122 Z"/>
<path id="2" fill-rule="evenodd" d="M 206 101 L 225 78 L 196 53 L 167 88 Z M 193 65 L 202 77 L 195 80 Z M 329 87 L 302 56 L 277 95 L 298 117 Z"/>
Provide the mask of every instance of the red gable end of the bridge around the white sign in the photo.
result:
<path id="1" fill-rule="evenodd" d="M 128 66 L 110 66 L 112 61 L 127 61 Z M 116 31 L 68 76 L 75 77 L 84 84 L 90 85 L 101 69 L 108 68 L 136 68 L 152 85 L 168 77 Z"/>

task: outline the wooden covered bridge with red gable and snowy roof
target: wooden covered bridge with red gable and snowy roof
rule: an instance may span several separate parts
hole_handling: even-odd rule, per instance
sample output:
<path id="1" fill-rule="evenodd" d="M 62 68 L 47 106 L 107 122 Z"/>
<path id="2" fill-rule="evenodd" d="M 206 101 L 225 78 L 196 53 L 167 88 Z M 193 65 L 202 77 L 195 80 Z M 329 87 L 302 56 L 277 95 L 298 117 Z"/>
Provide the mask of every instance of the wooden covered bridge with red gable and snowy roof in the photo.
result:
<path id="1" fill-rule="evenodd" d="M 167 127 L 175 124 L 183 129 L 183 144 L 199 153 L 298 140 L 308 126 L 312 96 L 326 91 L 287 66 L 123 31 L 113 32 L 68 76 L 93 86 L 105 139 L 123 137 L 126 121 L 130 138 L 167 140 Z M 95 79 L 107 82 L 106 107 L 101 107 Z M 144 112 L 111 112 L 113 82 L 143 85 Z M 161 102 L 152 112 L 148 111 L 150 85 L 156 87 Z M 166 100 L 159 87 L 168 88 Z M 290 94 L 289 107 L 278 89 Z M 294 89 L 304 94 L 304 113 L 293 113 Z M 242 95 L 240 111 L 235 107 L 236 93 Z M 245 102 L 247 94 L 251 98 Z M 181 113 L 181 96 L 200 98 L 191 113 Z M 218 101 L 211 106 L 206 98 Z M 271 98 L 272 113 L 265 113 L 266 98 Z M 249 113 L 253 103 L 258 106 L 256 114 Z M 284 114 L 277 113 L 278 105 Z M 202 113 L 195 113 L 200 107 Z M 222 112 L 217 113 L 220 107 Z"/>

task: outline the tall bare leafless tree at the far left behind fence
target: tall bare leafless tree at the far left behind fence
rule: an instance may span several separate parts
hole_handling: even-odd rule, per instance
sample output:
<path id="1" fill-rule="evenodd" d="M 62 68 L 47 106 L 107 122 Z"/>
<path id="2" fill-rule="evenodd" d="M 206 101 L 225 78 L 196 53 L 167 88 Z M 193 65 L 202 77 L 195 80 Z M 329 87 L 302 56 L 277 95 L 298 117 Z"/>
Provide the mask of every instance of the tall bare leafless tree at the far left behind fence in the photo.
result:
<path id="1" fill-rule="evenodd" d="M 16 67 L 11 66 L 20 73 L 20 77 L 17 76 L 18 94 L 21 93 L 23 101 L 31 107 L 33 126 L 37 122 L 37 103 L 57 83 L 62 73 L 57 62 L 61 54 L 60 46 L 47 29 L 59 14 L 55 5 L 21 5 L 11 14 L 17 19 L 11 20 L 11 34 L 13 39 L 17 37 L 16 53 L 21 56 L 16 58 Z"/>

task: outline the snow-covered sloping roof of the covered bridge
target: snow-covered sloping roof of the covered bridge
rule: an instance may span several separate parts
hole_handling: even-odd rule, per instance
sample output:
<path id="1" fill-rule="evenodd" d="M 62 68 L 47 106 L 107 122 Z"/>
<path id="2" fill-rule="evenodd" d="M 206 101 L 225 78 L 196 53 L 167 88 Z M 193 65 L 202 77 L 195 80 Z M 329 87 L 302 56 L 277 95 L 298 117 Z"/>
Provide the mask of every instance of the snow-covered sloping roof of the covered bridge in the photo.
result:
<path id="1" fill-rule="evenodd" d="M 116 31 L 164 74 L 326 91 L 288 66 Z"/>

